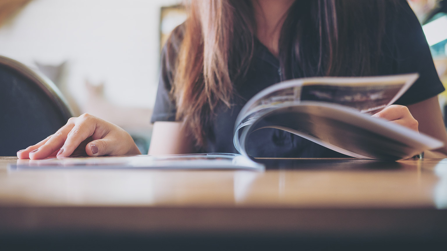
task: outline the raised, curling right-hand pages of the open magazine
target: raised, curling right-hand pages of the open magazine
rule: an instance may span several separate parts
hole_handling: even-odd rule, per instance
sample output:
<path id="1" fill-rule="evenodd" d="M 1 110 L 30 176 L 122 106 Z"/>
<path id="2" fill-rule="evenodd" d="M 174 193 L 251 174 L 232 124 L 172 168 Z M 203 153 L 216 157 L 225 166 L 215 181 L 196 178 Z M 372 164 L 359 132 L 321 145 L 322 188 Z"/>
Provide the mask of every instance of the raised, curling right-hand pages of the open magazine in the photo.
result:
<path id="1" fill-rule="evenodd" d="M 274 84 L 253 96 L 235 124 L 234 146 L 247 155 L 253 131 L 276 128 L 362 159 L 407 159 L 443 142 L 371 114 L 392 105 L 418 74 L 317 77 Z"/>

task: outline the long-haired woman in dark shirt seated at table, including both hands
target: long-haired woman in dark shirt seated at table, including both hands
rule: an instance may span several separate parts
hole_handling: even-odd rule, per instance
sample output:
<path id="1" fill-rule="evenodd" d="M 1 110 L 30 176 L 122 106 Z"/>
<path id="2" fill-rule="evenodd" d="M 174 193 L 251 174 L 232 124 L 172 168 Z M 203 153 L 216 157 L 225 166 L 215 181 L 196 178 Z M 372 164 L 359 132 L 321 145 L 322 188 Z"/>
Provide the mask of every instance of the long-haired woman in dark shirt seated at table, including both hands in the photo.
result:
<path id="1" fill-rule="evenodd" d="M 444 88 L 405 0 L 191 0 L 188 7 L 163 50 L 149 154 L 235 152 L 234 121 L 249 98 L 281 80 L 323 75 L 419 72 L 398 105 L 373 116 L 447 142 L 437 100 Z M 254 156 L 339 156 L 279 130 L 250 139 Z M 17 156 L 66 157 L 76 148 L 140 154 L 124 130 L 84 114 Z M 447 147 L 426 152 L 445 156 Z"/>

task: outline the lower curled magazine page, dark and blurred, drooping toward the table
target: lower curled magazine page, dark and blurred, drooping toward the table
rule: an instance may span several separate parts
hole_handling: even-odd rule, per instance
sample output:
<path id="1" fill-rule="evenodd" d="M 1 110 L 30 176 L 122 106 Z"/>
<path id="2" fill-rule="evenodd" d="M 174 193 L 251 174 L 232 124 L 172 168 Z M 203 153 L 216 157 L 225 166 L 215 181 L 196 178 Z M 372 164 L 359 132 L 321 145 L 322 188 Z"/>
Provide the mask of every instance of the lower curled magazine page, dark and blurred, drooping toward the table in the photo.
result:
<path id="1" fill-rule="evenodd" d="M 346 106 L 303 101 L 277 109 L 244 128 L 241 142 L 254 130 L 276 128 L 307 138 L 334 151 L 363 159 L 407 159 L 443 142 Z M 245 153 L 246 144 L 241 145 Z"/>

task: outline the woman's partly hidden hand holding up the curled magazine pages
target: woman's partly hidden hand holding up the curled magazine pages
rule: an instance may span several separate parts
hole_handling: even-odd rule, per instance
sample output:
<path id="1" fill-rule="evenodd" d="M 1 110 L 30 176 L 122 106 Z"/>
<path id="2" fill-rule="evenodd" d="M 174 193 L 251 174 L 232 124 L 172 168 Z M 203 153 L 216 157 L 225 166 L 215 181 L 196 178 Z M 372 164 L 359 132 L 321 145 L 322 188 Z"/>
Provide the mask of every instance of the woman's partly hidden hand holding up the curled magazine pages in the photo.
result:
<path id="1" fill-rule="evenodd" d="M 372 117 L 383 118 L 417 132 L 419 131 L 417 120 L 414 119 L 409 109 L 404 105 L 390 105 L 380 112 L 375 113 Z"/>

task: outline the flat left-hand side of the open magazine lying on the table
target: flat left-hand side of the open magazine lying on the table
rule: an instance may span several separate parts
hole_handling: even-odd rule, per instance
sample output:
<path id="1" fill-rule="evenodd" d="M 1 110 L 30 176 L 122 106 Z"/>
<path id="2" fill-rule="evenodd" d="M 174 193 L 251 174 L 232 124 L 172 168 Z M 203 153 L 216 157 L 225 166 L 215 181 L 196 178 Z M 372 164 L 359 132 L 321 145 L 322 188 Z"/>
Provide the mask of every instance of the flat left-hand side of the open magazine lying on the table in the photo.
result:
<path id="1" fill-rule="evenodd" d="M 10 164 L 11 171 L 47 169 L 136 169 L 136 170 L 247 170 L 264 171 L 265 166 L 240 154 L 176 154 L 132 156 L 73 156 L 48 159 L 18 159 Z"/>

